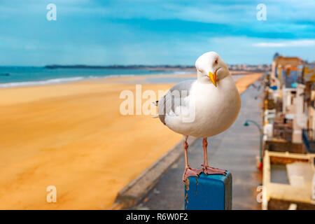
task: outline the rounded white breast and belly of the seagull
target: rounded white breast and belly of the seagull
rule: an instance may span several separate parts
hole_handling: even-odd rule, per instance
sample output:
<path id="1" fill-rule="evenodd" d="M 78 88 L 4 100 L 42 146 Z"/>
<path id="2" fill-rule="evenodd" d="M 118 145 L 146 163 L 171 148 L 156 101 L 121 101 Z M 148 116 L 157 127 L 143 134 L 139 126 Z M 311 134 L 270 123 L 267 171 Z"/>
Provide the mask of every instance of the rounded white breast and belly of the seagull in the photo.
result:
<path id="1" fill-rule="evenodd" d="M 196 82 L 186 99 L 189 108 L 176 111 L 176 115 L 166 115 L 165 123 L 183 135 L 211 137 L 228 129 L 235 122 L 241 99 L 231 76 L 212 84 Z M 189 113 L 187 112 L 189 111 Z"/>

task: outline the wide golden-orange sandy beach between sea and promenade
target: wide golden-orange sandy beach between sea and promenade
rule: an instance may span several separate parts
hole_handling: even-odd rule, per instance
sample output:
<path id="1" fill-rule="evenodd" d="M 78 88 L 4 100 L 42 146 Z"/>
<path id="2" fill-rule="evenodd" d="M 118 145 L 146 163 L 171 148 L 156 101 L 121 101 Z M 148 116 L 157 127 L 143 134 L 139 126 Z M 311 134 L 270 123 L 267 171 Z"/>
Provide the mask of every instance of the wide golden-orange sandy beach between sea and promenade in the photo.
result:
<path id="1" fill-rule="evenodd" d="M 239 92 L 261 75 L 238 78 Z M 182 138 L 151 116 L 120 113 L 120 92 L 146 78 L 0 89 L 0 209 L 109 209 Z M 172 85 L 144 81 L 142 91 Z M 48 186 L 57 203 L 46 202 Z"/>

